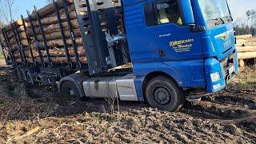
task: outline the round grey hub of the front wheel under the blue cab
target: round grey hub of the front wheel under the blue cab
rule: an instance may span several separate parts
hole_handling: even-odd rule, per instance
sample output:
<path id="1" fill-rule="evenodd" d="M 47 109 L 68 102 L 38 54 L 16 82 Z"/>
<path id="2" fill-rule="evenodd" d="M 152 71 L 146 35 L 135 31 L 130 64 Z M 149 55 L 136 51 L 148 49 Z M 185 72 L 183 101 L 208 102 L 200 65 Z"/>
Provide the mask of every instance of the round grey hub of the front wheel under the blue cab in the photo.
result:
<path id="1" fill-rule="evenodd" d="M 157 87 L 154 90 L 154 99 L 158 104 L 165 105 L 170 102 L 171 95 L 170 91 L 167 90 L 165 87 Z"/>

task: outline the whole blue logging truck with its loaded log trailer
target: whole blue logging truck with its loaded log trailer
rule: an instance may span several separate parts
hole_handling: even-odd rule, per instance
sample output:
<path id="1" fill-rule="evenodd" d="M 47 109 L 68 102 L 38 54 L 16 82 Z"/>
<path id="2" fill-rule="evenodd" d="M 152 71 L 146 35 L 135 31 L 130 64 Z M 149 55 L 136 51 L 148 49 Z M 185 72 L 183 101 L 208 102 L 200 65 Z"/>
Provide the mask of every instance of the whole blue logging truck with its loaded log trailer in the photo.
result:
<path id="1" fill-rule="evenodd" d="M 58 0 L 1 30 L 19 80 L 176 111 L 238 74 L 226 0 Z"/>

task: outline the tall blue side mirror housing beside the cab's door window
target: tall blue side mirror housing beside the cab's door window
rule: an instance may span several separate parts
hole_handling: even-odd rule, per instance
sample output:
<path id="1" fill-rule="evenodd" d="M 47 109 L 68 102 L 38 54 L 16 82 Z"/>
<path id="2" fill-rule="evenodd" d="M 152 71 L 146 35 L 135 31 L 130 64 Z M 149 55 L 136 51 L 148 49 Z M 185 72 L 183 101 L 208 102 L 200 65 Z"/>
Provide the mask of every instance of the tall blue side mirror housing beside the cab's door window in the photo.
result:
<path id="1" fill-rule="evenodd" d="M 182 17 L 184 18 L 184 24 L 194 24 L 194 14 L 190 0 L 179 0 L 180 6 L 182 7 Z"/>

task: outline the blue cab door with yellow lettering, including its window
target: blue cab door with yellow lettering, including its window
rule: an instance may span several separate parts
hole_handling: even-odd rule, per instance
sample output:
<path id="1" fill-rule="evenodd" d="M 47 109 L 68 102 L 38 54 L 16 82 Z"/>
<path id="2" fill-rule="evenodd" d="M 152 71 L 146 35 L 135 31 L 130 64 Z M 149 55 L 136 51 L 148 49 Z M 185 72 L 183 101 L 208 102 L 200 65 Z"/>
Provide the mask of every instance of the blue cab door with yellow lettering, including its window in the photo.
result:
<path id="1" fill-rule="evenodd" d="M 179 0 L 158 0 L 152 2 L 154 32 L 158 43 L 160 61 L 174 61 L 202 58 L 202 44 L 198 33 L 183 24 L 182 8 Z M 185 10 L 186 11 L 186 10 Z"/>

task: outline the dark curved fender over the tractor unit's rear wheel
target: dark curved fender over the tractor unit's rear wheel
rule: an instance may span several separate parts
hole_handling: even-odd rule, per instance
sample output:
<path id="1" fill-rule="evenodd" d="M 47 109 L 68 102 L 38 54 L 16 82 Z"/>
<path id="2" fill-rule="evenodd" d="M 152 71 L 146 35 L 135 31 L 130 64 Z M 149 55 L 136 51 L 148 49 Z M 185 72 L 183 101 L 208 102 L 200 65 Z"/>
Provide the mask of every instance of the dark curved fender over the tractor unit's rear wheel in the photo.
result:
<path id="1" fill-rule="evenodd" d="M 70 82 L 73 82 L 74 86 L 76 86 L 76 88 L 78 89 L 79 96 L 84 97 L 84 96 L 86 96 L 86 94 L 83 90 L 82 82 L 86 81 L 86 79 L 88 79 L 88 78 L 89 77 L 86 74 L 82 74 L 82 73 L 70 74 L 70 75 L 62 78 L 58 82 L 58 93 L 61 93 L 62 83 L 66 82 L 66 81 L 70 81 Z"/>

